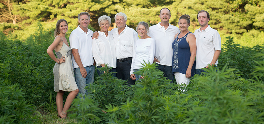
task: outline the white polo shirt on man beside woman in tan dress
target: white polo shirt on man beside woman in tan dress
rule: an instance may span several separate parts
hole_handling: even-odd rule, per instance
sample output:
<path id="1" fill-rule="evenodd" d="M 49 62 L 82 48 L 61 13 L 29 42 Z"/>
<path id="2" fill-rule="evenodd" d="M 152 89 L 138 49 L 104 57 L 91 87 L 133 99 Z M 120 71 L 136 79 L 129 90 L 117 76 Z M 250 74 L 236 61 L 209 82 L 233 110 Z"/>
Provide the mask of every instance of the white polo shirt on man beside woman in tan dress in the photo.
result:
<path id="1" fill-rule="evenodd" d="M 80 26 L 78 26 L 77 29 L 74 29 L 71 32 L 69 37 L 71 49 L 78 49 L 83 67 L 91 66 L 94 63 L 92 57 L 92 34 L 92 30 L 88 29 L 86 33 L 80 28 Z M 78 64 L 74 60 L 73 55 L 72 61 L 74 64 L 74 69 L 79 68 Z"/>

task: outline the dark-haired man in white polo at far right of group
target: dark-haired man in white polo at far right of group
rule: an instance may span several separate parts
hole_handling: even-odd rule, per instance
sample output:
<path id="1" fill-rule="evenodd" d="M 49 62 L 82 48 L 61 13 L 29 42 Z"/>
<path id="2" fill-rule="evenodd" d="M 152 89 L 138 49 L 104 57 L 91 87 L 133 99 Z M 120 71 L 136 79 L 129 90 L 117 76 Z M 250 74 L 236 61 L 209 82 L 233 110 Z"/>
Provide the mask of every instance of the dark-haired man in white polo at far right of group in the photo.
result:
<path id="1" fill-rule="evenodd" d="M 217 30 L 208 25 L 210 15 L 207 11 L 199 11 L 197 19 L 201 27 L 194 32 L 197 46 L 195 73 L 199 75 L 205 71 L 203 68 L 208 68 L 208 64 L 217 67 L 221 38 Z"/>

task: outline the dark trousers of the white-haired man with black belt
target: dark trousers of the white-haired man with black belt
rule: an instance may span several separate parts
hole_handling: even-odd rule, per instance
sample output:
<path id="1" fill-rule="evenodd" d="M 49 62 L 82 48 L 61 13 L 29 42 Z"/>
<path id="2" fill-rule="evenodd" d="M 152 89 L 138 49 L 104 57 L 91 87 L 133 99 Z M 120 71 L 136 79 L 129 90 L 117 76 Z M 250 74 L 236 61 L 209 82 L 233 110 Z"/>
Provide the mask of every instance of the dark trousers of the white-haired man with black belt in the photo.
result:
<path id="1" fill-rule="evenodd" d="M 127 60 L 124 62 L 116 62 L 116 77 L 122 80 L 128 80 L 128 85 L 134 85 L 135 80 L 130 78 L 130 68 L 132 60 Z"/>

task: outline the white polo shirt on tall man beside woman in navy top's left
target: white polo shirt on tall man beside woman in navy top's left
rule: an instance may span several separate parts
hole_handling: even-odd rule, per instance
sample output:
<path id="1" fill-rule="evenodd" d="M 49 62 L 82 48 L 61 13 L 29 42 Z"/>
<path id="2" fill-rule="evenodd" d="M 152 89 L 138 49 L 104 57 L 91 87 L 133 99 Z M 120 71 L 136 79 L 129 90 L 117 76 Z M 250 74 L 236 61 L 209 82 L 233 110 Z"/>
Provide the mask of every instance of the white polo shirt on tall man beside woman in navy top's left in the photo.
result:
<path id="1" fill-rule="evenodd" d="M 156 41 L 155 58 L 160 61 L 158 64 L 172 66 L 172 42 L 177 33 L 180 33 L 180 29 L 171 24 L 167 29 L 160 22 L 150 26 L 150 37 Z"/>

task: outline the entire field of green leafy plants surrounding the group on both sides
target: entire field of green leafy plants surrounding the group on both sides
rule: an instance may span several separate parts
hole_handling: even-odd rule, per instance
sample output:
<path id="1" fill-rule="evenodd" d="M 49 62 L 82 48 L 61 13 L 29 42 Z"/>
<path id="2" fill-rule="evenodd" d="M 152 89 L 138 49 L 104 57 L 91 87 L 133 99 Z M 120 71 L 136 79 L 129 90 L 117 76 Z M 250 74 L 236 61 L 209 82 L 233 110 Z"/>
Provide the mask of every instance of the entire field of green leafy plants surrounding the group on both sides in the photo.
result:
<path id="1" fill-rule="evenodd" d="M 37 123 L 31 115 L 38 107 L 56 112 L 55 62 L 46 53 L 53 31 L 38 28 L 26 42 L 0 33 L 1 122 Z M 159 78 L 162 73 L 154 64 L 146 64 L 138 72 L 145 78 L 132 87 L 111 73 L 96 76 L 87 86 L 90 94 L 74 100 L 70 117 L 76 123 L 263 123 L 263 46 L 241 47 L 226 40 L 218 70 L 193 77 L 185 92 L 184 86 Z"/>

